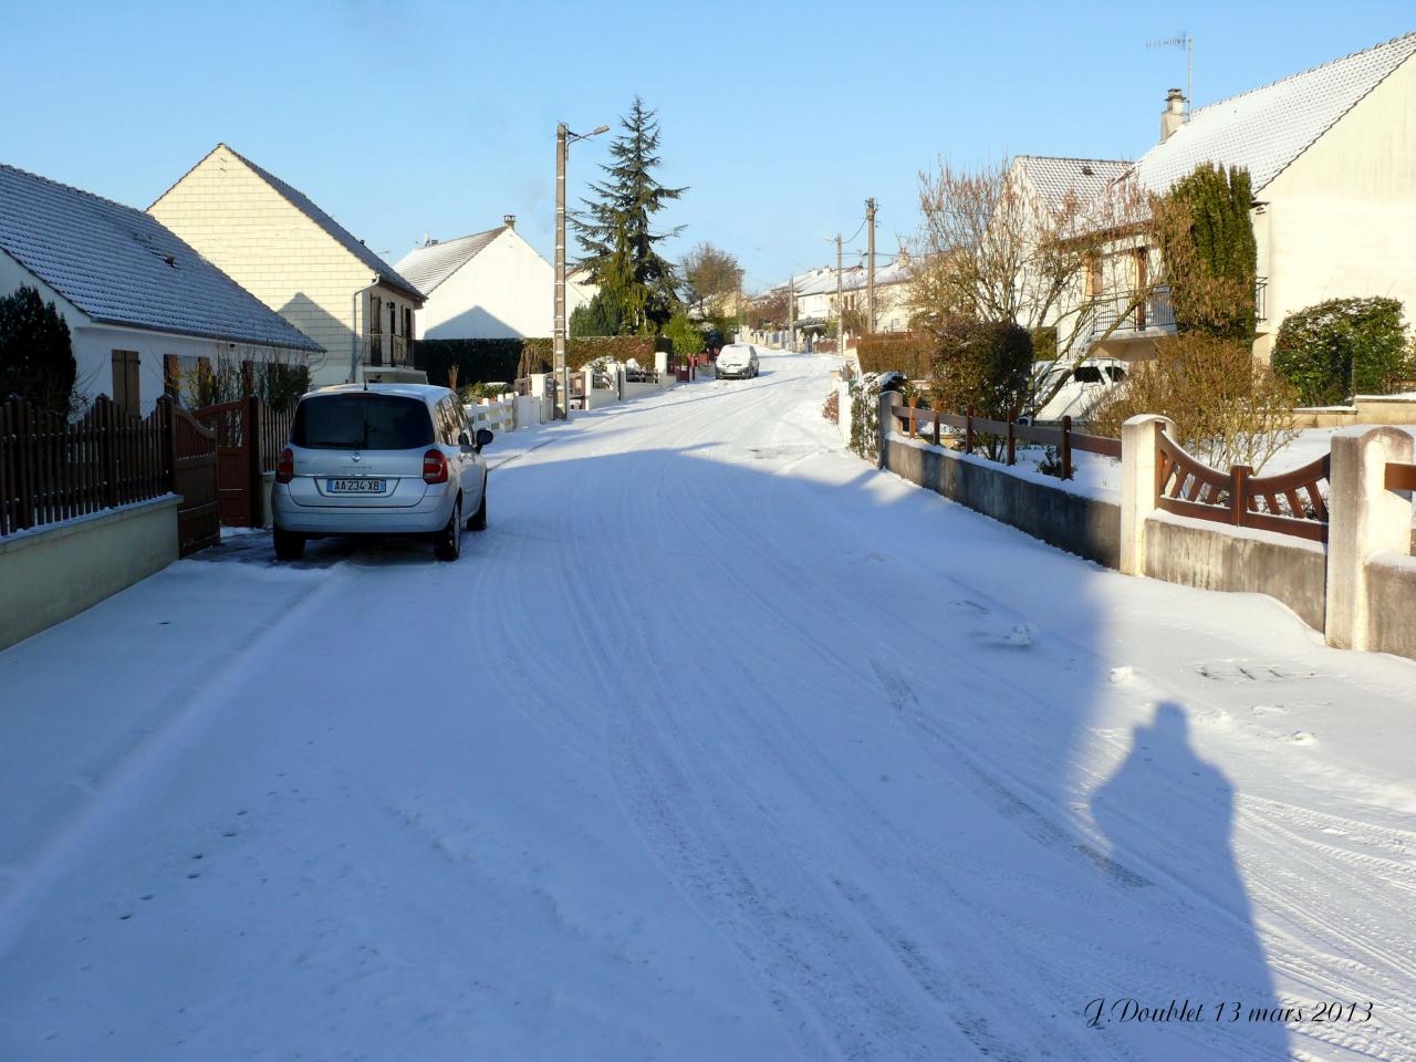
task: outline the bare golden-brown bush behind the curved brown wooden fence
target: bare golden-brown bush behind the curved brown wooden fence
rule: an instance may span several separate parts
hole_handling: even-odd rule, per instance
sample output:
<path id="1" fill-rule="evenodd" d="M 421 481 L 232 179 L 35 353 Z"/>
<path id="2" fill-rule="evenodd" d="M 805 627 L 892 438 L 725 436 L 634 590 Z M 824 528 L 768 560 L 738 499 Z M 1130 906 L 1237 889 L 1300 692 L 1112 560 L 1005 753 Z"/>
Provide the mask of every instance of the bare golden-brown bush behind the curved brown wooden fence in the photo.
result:
<path id="1" fill-rule="evenodd" d="M 1257 472 L 1297 436 L 1294 395 L 1289 381 L 1255 360 L 1246 340 L 1188 333 L 1157 343 L 1155 360 L 1137 365 L 1093 409 L 1089 430 L 1114 439 L 1129 418 L 1158 413 L 1206 464 Z"/>

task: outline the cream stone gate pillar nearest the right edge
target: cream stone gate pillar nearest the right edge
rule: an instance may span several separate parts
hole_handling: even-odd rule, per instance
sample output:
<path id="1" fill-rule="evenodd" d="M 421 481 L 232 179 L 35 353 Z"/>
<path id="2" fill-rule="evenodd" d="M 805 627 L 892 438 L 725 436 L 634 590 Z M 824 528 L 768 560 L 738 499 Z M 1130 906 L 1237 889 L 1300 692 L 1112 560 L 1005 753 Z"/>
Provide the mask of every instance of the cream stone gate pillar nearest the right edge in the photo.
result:
<path id="1" fill-rule="evenodd" d="M 1412 503 L 1386 490 L 1386 463 L 1412 462 L 1399 428 L 1344 428 L 1332 435 L 1328 472 L 1327 623 L 1330 646 L 1368 649 L 1366 561 L 1378 549 L 1412 548 Z"/>

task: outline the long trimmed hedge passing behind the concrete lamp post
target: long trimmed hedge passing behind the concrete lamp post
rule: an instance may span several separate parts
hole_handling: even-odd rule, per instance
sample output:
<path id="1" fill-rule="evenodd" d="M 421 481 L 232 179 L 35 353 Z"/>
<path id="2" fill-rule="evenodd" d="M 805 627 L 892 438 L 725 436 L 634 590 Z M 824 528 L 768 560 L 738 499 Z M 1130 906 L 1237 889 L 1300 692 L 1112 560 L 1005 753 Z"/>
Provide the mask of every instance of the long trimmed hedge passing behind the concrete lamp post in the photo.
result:
<path id="1" fill-rule="evenodd" d="M 596 358 L 653 367 L 654 351 L 673 351 L 663 336 L 582 336 L 566 343 L 565 360 L 572 370 Z M 457 365 L 457 384 L 511 382 L 532 372 L 549 372 L 551 340 L 544 336 L 501 340 L 418 340 L 413 364 L 428 374 L 429 384 L 447 384 L 447 368 Z"/>

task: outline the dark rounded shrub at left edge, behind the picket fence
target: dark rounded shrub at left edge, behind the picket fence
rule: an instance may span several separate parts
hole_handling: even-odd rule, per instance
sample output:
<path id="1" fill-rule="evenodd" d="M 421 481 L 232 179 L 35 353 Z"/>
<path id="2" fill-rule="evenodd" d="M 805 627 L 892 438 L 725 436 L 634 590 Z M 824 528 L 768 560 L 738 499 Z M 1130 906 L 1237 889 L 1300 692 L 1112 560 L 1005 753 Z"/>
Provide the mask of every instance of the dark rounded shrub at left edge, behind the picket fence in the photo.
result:
<path id="1" fill-rule="evenodd" d="M 68 415 L 78 367 L 69 326 L 34 287 L 0 296 L 0 401 L 10 395 Z"/>

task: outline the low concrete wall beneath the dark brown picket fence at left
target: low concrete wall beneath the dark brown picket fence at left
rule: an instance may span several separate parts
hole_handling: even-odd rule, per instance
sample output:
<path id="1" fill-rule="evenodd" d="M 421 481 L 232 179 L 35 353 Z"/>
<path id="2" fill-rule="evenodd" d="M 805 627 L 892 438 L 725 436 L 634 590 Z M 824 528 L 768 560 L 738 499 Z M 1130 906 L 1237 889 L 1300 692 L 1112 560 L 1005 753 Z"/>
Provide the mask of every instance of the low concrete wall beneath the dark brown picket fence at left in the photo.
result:
<path id="1" fill-rule="evenodd" d="M 174 494 L 0 538 L 0 649 L 177 559 Z"/>

